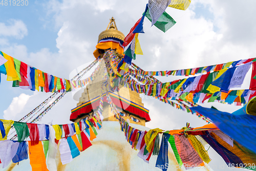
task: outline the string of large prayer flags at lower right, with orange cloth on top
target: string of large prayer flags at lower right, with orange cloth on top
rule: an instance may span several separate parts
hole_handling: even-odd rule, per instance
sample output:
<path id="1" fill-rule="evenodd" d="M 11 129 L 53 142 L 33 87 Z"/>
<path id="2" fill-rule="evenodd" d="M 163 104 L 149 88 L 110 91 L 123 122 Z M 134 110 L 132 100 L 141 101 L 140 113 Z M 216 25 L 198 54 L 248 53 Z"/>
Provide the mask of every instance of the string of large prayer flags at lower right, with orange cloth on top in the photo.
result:
<path id="1" fill-rule="evenodd" d="M 152 149 L 151 152 L 147 150 L 148 145 L 150 145 L 148 142 L 149 139 L 152 140 L 155 148 L 154 143 L 157 143 L 157 136 L 154 136 L 154 138 L 151 135 L 155 134 L 155 131 L 158 132 L 159 129 L 153 129 L 148 132 L 140 131 L 131 127 L 121 115 L 116 115 L 116 118 L 120 122 L 121 131 L 124 132 L 126 140 L 132 145 L 132 148 L 139 150 L 137 156 L 148 163 L 152 151 L 154 151 L 154 149 Z M 220 134 L 220 132 L 221 131 L 215 124 L 191 128 L 189 127 L 189 123 L 187 123 L 186 127 L 183 127 L 181 130 L 171 130 L 167 132 L 160 131 L 156 133 L 157 135 L 161 133 L 163 135 L 160 151 L 157 154 L 156 167 L 162 170 L 167 170 L 168 168 L 167 142 L 170 143 L 180 168 L 184 166 L 186 169 L 191 169 L 204 166 L 204 162 L 209 163 L 211 159 L 208 156 L 208 150 L 205 150 L 204 148 L 204 145 L 207 143 L 215 149 L 224 161 L 226 161 L 229 167 L 231 167 L 230 163 L 238 164 L 240 166 L 241 164 L 247 166 L 249 163 L 255 163 L 255 153 L 238 144 L 236 140 L 233 140 L 232 146 L 229 145 L 230 140 L 228 140 L 228 136 L 224 133 Z M 229 144 L 226 141 L 229 142 Z M 249 157 L 245 157 L 245 153 L 248 153 Z"/>

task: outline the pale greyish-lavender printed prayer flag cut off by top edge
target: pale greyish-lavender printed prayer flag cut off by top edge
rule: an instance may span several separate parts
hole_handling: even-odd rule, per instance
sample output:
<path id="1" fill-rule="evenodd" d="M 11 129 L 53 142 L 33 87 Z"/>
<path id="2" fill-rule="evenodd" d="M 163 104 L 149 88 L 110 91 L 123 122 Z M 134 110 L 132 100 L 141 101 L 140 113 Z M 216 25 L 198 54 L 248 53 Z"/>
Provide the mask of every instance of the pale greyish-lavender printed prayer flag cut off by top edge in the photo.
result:
<path id="1" fill-rule="evenodd" d="M 148 8 L 150 9 L 150 16 L 152 18 L 151 26 L 157 22 L 170 2 L 172 2 L 172 0 L 148 0 Z"/>

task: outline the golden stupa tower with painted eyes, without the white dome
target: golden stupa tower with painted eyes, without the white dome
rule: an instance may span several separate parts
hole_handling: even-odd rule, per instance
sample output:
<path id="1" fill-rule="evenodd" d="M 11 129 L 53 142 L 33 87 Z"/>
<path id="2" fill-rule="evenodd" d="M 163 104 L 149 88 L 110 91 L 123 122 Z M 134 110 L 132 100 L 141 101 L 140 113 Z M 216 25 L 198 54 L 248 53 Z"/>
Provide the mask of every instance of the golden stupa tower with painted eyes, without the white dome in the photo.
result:
<path id="1" fill-rule="evenodd" d="M 112 17 L 106 30 L 99 34 L 98 44 L 93 53 L 94 56 L 96 58 L 102 58 L 106 51 L 114 50 L 115 56 L 122 58 L 124 50 L 124 47 L 122 46 L 123 39 L 124 35 L 117 30 L 115 19 Z M 106 88 L 102 87 L 102 77 L 105 70 L 104 60 L 102 60 L 99 65 L 99 70 L 95 72 L 93 79 L 81 94 L 77 107 L 72 110 L 70 120 L 74 122 L 78 122 L 81 119 L 90 119 L 93 116 L 99 108 L 102 92 L 104 93 L 102 112 L 102 116 L 104 117 L 103 121 L 118 121 L 111 112 L 110 104 L 106 101 Z M 145 122 L 150 121 L 148 110 L 144 108 L 139 93 L 132 91 L 129 88 L 122 87 L 118 92 L 111 92 L 110 95 L 118 110 L 122 111 L 123 118 L 126 121 L 143 126 L 145 126 Z"/>

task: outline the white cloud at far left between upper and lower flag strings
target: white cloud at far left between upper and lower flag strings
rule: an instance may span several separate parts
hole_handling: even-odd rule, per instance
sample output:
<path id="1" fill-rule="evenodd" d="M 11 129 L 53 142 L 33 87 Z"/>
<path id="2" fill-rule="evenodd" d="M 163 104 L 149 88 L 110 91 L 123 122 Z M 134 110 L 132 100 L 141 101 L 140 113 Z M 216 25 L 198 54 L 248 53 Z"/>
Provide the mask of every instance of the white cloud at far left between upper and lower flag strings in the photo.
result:
<path id="1" fill-rule="evenodd" d="M 19 113 L 23 112 L 30 97 L 31 96 L 24 93 L 20 94 L 18 97 L 14 97 L 7 110 L 4 111 L 4 118 L 10 120 L 16 118 Z"/>

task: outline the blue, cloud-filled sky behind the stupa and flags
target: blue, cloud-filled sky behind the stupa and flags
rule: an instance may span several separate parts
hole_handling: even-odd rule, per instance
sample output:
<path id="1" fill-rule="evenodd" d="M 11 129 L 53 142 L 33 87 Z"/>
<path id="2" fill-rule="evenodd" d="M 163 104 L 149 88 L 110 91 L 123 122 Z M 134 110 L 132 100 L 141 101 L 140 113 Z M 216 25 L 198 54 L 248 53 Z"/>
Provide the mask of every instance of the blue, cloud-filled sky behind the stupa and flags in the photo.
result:
<path id="1" fill-rule="evenodd" d="M 92 62 L 98 35 L 113 16 L 117 28 L 129 33 L 144 12 L 146 0 L 77 0 L 28 1 L 28 6 L 0 5 L 0 51 L 49 74 L 70 79 L 81 65 Z M 256 57 L 255 1 L 191 1 L 187 10 L 167 8 L 176 25 L 163 33 L 151 27 L 145 18 L 144 32 L 139 34 L 143 55 L 133 62 L 145 71 L 178 70 Z M 241 89 L 249 88 L 250 72 Z M 72 74 L 71 74 L 72 75 Z M 12 88 L 12 82 L 1 75 L 0 118 L 19 120 L 51 94 Z M 181 77 L 157 77 L 166 82 Z M 206 124 L 191 113 L 150 97 L 142 96 L 152 121 L 147 127 L 163 130 L 180 129 L 190 123 Z M 71 109 L 77 101 L 68 93 L 42 119 L 41 123 L 70 123 Z M 225 112 L 239 106 L 206 103 Z M 215 152 L 212 165 L 224 161 Z M 214 169 L 218 170 L 218 169 Z"/>

